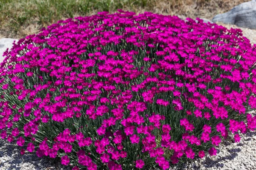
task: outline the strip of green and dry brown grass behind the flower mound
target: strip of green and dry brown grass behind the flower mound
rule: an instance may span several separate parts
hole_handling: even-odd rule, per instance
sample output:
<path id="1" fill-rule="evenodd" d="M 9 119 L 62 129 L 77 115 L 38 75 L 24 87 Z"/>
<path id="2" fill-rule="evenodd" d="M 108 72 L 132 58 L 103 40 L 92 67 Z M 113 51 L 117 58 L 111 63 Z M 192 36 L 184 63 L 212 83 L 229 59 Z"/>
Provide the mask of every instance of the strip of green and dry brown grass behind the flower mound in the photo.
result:
<path id="1" fill-rule="evenodd" d="M 115 12 L 143 13 L 212 19 L 216 14 L 250 0 L 0 0 L 0 38 L 20 39 L 61 19 Z"/>

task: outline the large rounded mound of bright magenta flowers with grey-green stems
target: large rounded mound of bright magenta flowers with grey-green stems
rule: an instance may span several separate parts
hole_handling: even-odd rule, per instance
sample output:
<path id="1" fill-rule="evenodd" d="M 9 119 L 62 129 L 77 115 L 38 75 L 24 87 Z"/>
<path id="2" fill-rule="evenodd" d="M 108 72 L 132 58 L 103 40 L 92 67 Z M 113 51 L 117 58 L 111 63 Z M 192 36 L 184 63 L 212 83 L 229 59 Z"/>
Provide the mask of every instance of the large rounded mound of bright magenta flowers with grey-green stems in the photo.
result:
<path id="1" fill-rule="evenodd" d="M 256 129 L 256 45 L 240 29 L 99 12 L 4 55 L 1 138 L 73 170 L 166 170 Z"/>

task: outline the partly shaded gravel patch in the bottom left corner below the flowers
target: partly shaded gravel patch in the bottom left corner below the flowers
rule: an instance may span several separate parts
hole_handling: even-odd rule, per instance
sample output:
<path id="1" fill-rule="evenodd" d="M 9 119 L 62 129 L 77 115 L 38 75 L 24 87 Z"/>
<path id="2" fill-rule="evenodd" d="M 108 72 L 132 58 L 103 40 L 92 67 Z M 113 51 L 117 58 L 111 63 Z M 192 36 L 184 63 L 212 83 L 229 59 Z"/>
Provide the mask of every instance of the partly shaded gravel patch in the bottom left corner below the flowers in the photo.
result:
<path id="1" fill-rule="evenodd" d="M 0 140 L 0 170 L 71 170 L 57 159 L 38 158 L 35 153 L 20 154 L 15 142 Z"/>

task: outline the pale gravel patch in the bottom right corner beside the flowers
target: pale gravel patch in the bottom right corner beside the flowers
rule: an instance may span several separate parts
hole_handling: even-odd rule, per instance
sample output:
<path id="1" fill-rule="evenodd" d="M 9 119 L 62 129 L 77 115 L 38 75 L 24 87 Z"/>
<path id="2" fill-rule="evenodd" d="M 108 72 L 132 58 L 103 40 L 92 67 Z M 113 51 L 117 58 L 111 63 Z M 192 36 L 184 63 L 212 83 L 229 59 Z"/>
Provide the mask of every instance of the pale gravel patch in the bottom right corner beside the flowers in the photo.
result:
<path id="1" fill-rule="evenodd" d="M 256 132 L 239 135 L 239 143 L 226 141 L 216 147 L 216 156 L 206 154 L 170 170 L 256 170 Z"/>

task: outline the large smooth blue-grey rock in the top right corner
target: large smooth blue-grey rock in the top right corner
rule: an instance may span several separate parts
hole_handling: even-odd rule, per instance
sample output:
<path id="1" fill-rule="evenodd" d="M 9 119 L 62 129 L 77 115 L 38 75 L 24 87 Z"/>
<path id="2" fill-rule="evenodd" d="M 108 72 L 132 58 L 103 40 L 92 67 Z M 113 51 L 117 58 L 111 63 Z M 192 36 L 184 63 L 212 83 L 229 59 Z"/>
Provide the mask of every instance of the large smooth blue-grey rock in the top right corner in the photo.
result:
<path id="1" fill-rule="evenodd" d="M 233 24 L 243 28 L 256 28 L 256 0 L 241 3 L 224 14 L 213 17 L 212 22 Z"/>

